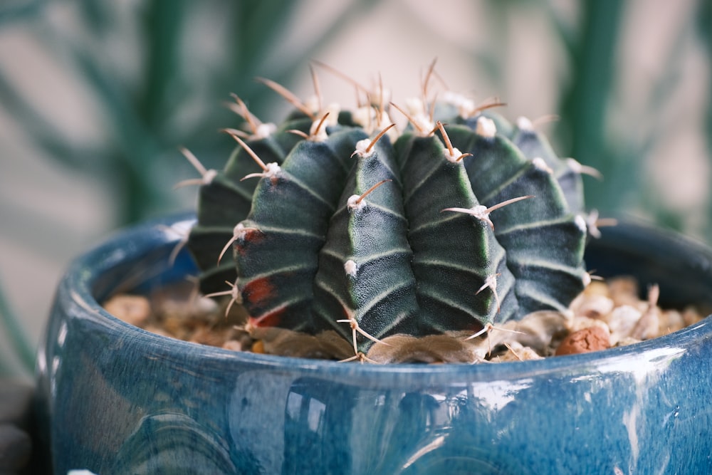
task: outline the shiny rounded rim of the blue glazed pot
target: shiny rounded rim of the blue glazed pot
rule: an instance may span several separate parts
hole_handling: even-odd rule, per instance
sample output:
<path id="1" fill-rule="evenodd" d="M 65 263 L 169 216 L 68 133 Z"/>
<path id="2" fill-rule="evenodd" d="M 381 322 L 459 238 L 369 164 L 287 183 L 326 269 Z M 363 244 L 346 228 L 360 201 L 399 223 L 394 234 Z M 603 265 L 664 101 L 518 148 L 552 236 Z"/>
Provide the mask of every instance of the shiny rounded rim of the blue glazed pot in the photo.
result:
<path id="1" fill-rule="evenodd" d="M 668 335 L 652 340 L 634 343 L 617 348 L 609 348 L 592 353 L 546 357 L 541 360 L 497 363 L 449 363 L 446 365 L 424 365 L 419 363 L 400 364 L 345 364 L 331 360 L 313 360 L 300 357 L 263 355 L 251 352 L 239 352 L 224 348 L 191 343 L 138 328 L 111 315 L 95 298 L 95 283 L 108 269 L 118 263 L 127 263 L 140 259 L 147 251 L 158 246 L 170 249 L 179 243 L 179 229 L 189 229 L 195 221 L 194 214 L 182 213 L 164 218 L 154 219 L 142 224 L 118 231 L 95 246 L 90 251 L 74 259 L 60 284 L 60 291 L 66 292 L 70 305 L 75 311 L 70 312 L 73 318 L 89 318 L 100 325 L 107 333 L 120 338 L 130 335 L 130 338 L 145 343 L 149 350 L 159 350 L 161 353 L 184 353 L 187 357 L 220 360 L 261 367 L 289 367 L 292 370 L 320 373 L 342 372 L 348 368 L 353 375 L 378 375 L 407 372 L 426 375 L 448 375 L 450 373 L 463 375 L 481 375 L 482 379 L 509 380 L 517 377 L 538 375 L 549 372 L 581 373 L 583 368 L 592 372 L 608 370 L 631 371 L 641 361 L 656 362 L 679 357 L 702 338 L 712 338 L 712 318 L 708 316 L 700 322 L 690 325 Z M 679 234 L 662 231 L 647 224 L 634 221 L 622 221 L 617 225 L 616 234 L 644 234 L 651 239 L 665 239 L 669 243 L 684 245 L 689 254 L 703 256 L 706 261 L 712 261 L 712 251 Z M 603 231 L 604 234 L 608 229 Z M 187 252 L 185 250 L 182 251 Z M 709 271 L 708 271 L 709 272 Z M 711 278 L 712 279 L 712 278 Z M 597 370 L 597 371 L 596 371 Z M 480 378 L 477 378 L 480 379 Z"/>

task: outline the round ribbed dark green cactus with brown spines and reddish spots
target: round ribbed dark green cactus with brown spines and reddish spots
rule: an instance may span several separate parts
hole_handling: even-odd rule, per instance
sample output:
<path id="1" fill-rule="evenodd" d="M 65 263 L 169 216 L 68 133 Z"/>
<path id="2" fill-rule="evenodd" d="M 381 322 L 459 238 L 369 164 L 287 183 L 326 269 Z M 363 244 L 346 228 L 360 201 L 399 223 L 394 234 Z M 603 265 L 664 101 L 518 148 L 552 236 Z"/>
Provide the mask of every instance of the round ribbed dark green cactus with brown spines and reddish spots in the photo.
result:
<path id="1" fill-rule="evenodd" d="M 381 88 L 353 113 L 263 80 L 297 106 L 279 127 L 236 98 L 249 132 L 226 130 L 239 147 L 221 172 L 201 170 L 188 246 L 201 289 L 244 306 L 271 351 L 457 353 L 507 320 L 565 310 L 585 285 L 582 167 L 528 120 L 426 100 L 431 73 L 408 110 Z"/>

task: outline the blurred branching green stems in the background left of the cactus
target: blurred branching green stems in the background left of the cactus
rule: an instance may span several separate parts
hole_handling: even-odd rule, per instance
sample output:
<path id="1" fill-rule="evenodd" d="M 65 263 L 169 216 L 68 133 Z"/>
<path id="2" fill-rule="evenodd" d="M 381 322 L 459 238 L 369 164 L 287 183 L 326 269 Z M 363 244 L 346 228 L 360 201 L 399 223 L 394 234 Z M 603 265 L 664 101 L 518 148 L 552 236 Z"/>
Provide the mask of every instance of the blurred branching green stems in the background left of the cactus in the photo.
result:
<path id="1" fill-rule="evenodd" d="M 218 103 L 227 98 L 231 90 L 247 90 L 251 98 L 251 108 L 259 110 L 259 103 L 271 103 L 273 95 L 259 88 L 253 82 L 254 71 L 263 69 L 265 63 L 272 69 L 271 76 L 288 83 L 296 66 L 312 58 L 318 49 L 328 44 L 335 34 L 342 31 L 356 14 L 361 14 L 377 3 L 374 1 L 352 2 L 324 27 L 320 36 L 306 44 L 286 61 L 268 63 L 266 58 L 274 57 L 273 51 L 279 46 L 281 32 L 289 29 L 299 2 L 289 2 L 286 6 L 279 1 L 237 2 L 219 6 L 224 15 L 231 18 L 227 33 L 226 47 L 231 51 L 217 77 L 211 78 L 209 90 L 221 91 L 211 95 Z M 167 162 L 172 160 L 171 152 L 178 145 L 185 145 L 199 152 L 201 158 L 209 162 L 213 155 L 224 155 L 231 149 L 230 142 L 214 133 L 233 116 L 217 114 L 196 121 L 189 135 L 184 135 L 176 143 L 177 137 L 166 130 L 169 118 L 177 113 L 176 108 L 184 95 L 192 93 L 193 85 L 182 83 L 182 73 L 189 68 L 184 58 L 184 35 L 186 24 L 196 13 L 197 4 L 184 0 L 147 0 L 140 14 L 140 34 L 145 61 L 143 80 L 138 87 L 122 82 L 120 75 L 112 67 L 107 68 L 105 58 L 97 58 L 92 43 L 86 39 L 78 42 L 72 34 L 48 21 L 42 15 L 41 6 L 33 5 L 34 15 L 23 9 L 28 24 L 36 29 L 41 43 L 62 58 L 68 68 L 77 71 L 85 85 L 84 90 L 95 100 L 99 108 L 106 112 L 108 134 L 112 147 L 107 150 L 90 150 L 83 144 L 75 144 L 63 137 L 51 119 L 41 113 L 36 105 L 24 98 L 19 88 L 0 71 L 0 98 L 8 105 L 12 115 L 25 130 L 32 130 L 31 140 L 57 162 L 69 165 L 82 172 L 108 182 L 107 189 L 115 189 L 113 214 L 117 216 L 116 226 L 130 224 L 145 219 L 147 215 L 169 208 L 176 203 L 175 197 L 164 176 Z M 88 38 L 107 41 L 108 25 L 112 21 L 112 11 L 105 4 L 91 0 L 78 2 L 79 13 L 86 25 Z M 211 8 L 205 6 L 204 8 Z M 20 11 L 1 9 L 0 14 L 18 18 Z M 86 37 L 83 37 L 86 38 Z M 273 38 L 273 41 L 264 41 Z M 112 65 L 108 65 L 112 66 Z M 113 65 L 115 66 L 115 65 Z M 274 74 L 277 72 L 276 74 Z M 237 84 L 236 84 L 237 83 Z M 239 87 L 235 87 L 235 85 Z M 250 87 L 244 87 L 249 85 Z M 251 95 L 251 90 L 259 91 Z M 227 112 L 225 113 L 227 114 Z M 181 163 L 176 154 L 177 163 Z"/>

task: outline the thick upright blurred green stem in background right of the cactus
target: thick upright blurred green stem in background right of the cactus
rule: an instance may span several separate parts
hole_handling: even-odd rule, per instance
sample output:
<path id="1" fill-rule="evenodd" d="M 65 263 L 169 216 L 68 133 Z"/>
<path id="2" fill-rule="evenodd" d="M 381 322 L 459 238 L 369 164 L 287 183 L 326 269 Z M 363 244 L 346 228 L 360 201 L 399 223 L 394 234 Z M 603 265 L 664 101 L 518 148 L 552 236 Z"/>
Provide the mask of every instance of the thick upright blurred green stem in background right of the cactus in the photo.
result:
<path id="1" fill-rule="evenodd" d="M 636 188 L 630 183 L 636 177 L 629 164 L 606 146 L 605 136 L 624 5 L 619 0 L 582 3 L 580 38 L 568 49 L 570 88 L 560 107 L 561 123 L 570 127 L 570 156 L 596 167 L 607 179 L 605 183 L 590 180 L 585 190 L 587 205 L 604 214 L 619 209 L 622 190 Z M 614 182 L 618 179 L 627 181 L 627 187 Z"/>

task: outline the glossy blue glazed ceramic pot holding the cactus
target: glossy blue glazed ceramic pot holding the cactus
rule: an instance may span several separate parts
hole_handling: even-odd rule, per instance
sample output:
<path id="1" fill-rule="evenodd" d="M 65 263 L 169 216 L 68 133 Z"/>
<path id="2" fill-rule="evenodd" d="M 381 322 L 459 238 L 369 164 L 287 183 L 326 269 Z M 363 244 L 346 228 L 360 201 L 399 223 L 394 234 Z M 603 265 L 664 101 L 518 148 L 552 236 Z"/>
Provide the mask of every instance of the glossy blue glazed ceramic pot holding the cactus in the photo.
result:
<path id="1" fill-rule="evenodd" d="M 164 338 L 97 303 L 194 271 L 163 225 L 70 266 L 39 353 L 54 473 L 712 473 L 712 318 L 625 348 L 482 365 L 360 365 L 234 353 Z M 712 252 L 621 225 L 587 265 L 709 302 Z M 128 279 L 128 280 L 127 280 Z"/>

